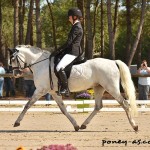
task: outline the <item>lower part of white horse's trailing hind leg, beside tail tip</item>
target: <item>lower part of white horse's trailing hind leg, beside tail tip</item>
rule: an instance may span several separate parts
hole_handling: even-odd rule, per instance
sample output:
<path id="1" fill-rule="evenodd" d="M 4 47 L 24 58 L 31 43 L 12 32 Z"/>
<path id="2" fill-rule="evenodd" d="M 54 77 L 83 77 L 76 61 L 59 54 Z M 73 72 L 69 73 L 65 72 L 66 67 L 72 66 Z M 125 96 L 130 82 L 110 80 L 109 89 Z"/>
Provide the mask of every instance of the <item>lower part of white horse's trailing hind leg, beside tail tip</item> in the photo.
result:
<path id="1" fill-rule="evenodd" d="M 135 121 L 133 120 L 131 114 L 130 114 L 130 109 L 129 109 L 129 104 L 128 102 L 120 95 L 119 98 L 117 98 L 118 103 L 123 107 L 123 109 L 125 110 L 129 123 L 131 124 L 132 128 L 135 131 L 138 131 L 138 126 L 135 124 Z"/>

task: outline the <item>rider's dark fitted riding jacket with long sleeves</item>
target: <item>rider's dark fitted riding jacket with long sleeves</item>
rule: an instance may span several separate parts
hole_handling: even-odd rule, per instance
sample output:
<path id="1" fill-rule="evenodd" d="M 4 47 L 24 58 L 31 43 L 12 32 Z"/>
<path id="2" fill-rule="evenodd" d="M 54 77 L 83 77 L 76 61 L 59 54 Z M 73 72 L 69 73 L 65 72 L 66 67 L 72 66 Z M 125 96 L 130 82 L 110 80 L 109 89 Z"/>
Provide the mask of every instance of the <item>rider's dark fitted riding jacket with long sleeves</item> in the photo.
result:
<path id="1" fill-rule="evenodd" d="M 59 48 L 59 51 L 64 52 L 64 54 L 79 56 L 82 53 L 80 46 L 82 36 L 83 29 L 81 23 L 77 22 L 72 26 L 66 43 Z"/>

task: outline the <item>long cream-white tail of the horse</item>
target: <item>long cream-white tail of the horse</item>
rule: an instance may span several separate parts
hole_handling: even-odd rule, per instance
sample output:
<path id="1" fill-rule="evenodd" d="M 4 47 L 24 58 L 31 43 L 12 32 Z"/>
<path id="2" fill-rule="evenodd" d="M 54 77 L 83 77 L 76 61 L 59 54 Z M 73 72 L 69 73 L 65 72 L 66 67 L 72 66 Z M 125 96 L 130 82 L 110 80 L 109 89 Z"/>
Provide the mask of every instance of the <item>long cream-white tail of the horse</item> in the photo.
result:
<path id="1" fill-rule="evenodd" d="M 130 70 L 128 66 L 120 60 L 116 60 L 116 64 L 119 66 L 120 70 L 121 85 L 124 89 L 127 99 L 129 99 L 131 115 L 137 115 L 136 91 L 131 78 Z"/>

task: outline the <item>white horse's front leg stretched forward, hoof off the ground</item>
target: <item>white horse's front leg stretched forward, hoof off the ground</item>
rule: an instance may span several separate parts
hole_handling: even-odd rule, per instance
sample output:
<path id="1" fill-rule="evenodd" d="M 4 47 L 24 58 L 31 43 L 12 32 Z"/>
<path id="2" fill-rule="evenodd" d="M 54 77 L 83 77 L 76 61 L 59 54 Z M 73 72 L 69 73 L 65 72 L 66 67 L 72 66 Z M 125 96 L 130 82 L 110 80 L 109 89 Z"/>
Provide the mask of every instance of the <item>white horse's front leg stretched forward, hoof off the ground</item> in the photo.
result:
<path id="1" fill-rule="evenodd" d="M 40 92 L 37 90 L 35 90 L 31 100 L 29 100 L 27 102 L 27 104 L 25 105 L 23 111 L 21 112 L 21 114 L 19 115 L 19 117 L 17 118 L 17 120 L 15 121 L 14 127 L 20 126 L 20 121 L 23 119 L 25 113 L 27 112 L 27 110 L 42 96 L 42 94 L 39 94 Z"/>

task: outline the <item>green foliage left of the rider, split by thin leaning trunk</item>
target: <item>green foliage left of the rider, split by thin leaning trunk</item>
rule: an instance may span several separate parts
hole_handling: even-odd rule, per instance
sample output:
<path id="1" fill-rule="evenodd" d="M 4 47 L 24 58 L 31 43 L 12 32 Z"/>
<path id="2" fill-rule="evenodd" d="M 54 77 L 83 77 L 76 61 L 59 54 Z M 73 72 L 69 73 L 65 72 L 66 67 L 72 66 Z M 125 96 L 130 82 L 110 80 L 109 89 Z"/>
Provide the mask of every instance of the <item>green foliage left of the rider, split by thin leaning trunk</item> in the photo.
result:
<path id="1" fill-rule="evenodd" d="M 56 28 L 57 45 L 62 45 L 68 36 L 70 28 L 68 27 L 68 9 L 72 7 L 71 0 L 55 0 L 52 4 L 52 11 L 54 16 Z M 75 6 L 74 6 L 75 7 Z M 42 8 L 42 30 L 44 35 L 44 42 L 46 47 L 53 47 L 52 22 L 47 4 Z"/>

